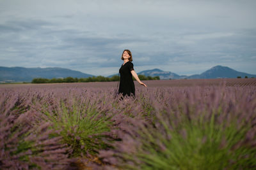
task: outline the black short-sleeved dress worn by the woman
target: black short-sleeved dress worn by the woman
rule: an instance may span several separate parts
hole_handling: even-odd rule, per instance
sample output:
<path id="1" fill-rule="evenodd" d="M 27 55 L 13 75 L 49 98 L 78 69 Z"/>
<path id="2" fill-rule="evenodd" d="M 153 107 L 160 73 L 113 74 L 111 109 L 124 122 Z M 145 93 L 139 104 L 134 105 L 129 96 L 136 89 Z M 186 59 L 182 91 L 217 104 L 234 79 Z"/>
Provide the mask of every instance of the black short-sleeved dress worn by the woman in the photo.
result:
<path id="1" fill-rule="evenodd" d="M 135 87 L 132 80 L 133 64 L 131 61 L 125 62 L 119 69 L 120 73 L 120 84 L 118 94 L 122 93 L 123 96 L 135 96 Z"/>

